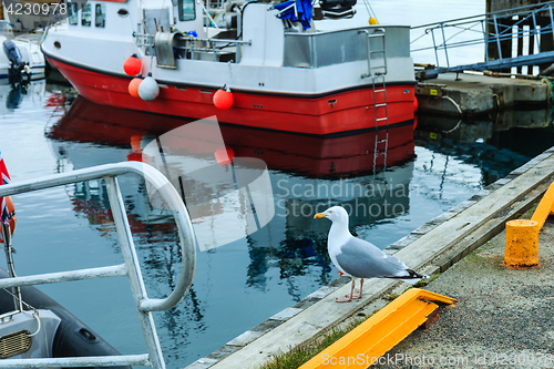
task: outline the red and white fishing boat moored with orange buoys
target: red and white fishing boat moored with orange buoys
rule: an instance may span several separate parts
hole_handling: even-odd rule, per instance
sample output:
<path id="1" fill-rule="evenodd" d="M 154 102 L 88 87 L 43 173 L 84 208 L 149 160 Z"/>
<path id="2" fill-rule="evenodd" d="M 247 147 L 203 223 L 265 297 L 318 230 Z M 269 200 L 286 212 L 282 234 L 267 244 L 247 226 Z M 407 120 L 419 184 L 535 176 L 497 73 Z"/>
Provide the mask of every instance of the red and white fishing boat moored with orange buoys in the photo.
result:
<path id="1" fill-rule="evenodd" d="M 322 136 L 412 125 L 409 27 L 348 27 L 352 0 L 319 0 L 304 27 L 284 19 L 310 16 L 301 1 L 227 0 L 216 18 L 225 29 L 204 27 L 202 1 L 70 2 L 42 51 L 100 104 Z M 127 72 L 146 78 L 130 85 L 133 54 Z"/>

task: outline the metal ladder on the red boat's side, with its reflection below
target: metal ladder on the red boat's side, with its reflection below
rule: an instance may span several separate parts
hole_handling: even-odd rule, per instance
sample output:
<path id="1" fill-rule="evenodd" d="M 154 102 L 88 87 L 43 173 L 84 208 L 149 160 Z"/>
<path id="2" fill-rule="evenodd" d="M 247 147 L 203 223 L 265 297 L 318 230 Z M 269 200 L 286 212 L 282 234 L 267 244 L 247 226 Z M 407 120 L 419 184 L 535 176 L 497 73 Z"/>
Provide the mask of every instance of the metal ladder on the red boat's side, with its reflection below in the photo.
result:
<path id="1" fill-rule="evenodd" d="M 387 105 L 387 83 L 384 76 L 387 74 L 387 53 L 384 43 L 384 29 L 378 28 L 373 33 L 369 30 L 360 30 L 359 33 L 366 33 L 366 45 L 368 54 L 368 73 L 361 74 L 362 79 L 370 78 L 373 91 L 373 113 L 376 122 L 376 143 L 373 150 L 373 172 L 377 168 L 377 157 L 383 156 L 383 171 L 387 168 L 387 151 L 389 148 L 389 112 Z M 375 43 L 381 44 L 381 49 L 371 49 L 371 40 Z M 379 41 L 380 40 L 380 41 Z M 378 47 L 379 48 L 379 47 Z M 371 62 L 371 55 L 382 54 L 382 64 Z M 379 127 L 384 125 L 384 132 L 379 134 Z M 383 136 L 384 135 L 384 136 Z M 384 145 L 384 147 L 382 147 Z"/>

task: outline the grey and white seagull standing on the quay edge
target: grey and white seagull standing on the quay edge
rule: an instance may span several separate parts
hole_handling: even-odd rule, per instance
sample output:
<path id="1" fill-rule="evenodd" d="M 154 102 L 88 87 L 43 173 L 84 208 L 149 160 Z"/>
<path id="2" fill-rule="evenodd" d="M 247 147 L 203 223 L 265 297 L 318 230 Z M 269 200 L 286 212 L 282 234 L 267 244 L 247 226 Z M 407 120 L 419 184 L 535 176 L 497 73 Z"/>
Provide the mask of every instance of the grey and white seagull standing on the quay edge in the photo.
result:
<path id="1" fill-rule="evenodd" d="M 337 303 L 361 298 L 363 278 L 394 278 L 412 285 L 429 278 L 408 268 L 399 258 L 384 254 L 376 245 L 352 236 L 348 230 L 348 213 L 343 207 L 334 206 L 314 217 L 332 222 L 327 237 L 329 256 L 340 275 L 352 277 L 350 296 L 337 298 Z M 353 294 L 355 278 L 361 278 L 359 295 Z"/>

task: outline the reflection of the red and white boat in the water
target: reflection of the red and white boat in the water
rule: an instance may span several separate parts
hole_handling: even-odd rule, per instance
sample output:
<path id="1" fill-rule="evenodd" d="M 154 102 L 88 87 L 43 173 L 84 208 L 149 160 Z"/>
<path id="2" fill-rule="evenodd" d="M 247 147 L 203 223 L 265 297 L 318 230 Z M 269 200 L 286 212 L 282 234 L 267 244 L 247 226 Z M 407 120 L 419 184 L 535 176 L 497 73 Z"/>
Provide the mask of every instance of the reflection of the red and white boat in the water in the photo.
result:
<path id="1" fill-rule="evenodd" d="M 168 133 L 160 131 L 161 120 L 163 120 L 163 126 L 174 127 L 174 130 Z M 379 144 L 376 157 L 375 132 L 320 139 L 216 125 L 206 121 L 202 130 L 194 132 L 189 130 L 187 134 L 179 136 L 175 129 L 187 127 L 186 123 L 175 117 L 106 109 L 78 98 L 65 116 L 51 127 L 49 136 L 55 139 L 55 143 L 52 144 L 58 146 L 57 152 L 68 157 L 75 168 L 90 166 L 92 163 L 88 158 L 98 162 L 99 157 L 90 152 L 94 146 L 82 146 L 86 148 L 85 154 L 79 152 L 79 145 L 72 145 L 73 148 L 70 152 L 65 148 L 66 142 L 131 146 L 132 150 L 126 155 L 126 160 L 148 162 L 148 158 L 156 155 L 155 151 L 161 147 L 156 145 L 153 147 L 154 151 L 143 153 L 144 147 L 148 143 L 163 141 L 163 145 L 167 147 L 162 147 L 165 150 L 162 155 L 163 163 L 156 164 L 158 170 L 172 177 L 174 175 L 166 172 L 167 165 L 172 165 L 172 158 L 181 161 L 179 165 L 191 167 L 198 166 L 198 161 L 217 164 L 216 151 L 223 144 L 217 140 L 220 130 L 225 148 L 230 150 L 235 160 L 257 158 L 271 171 L 270 181 L 276 217 L 283 218 L 289 230 L 291 228 L 309 229 L 311 216 L 317 212 L 316 207 L 329 206 L 337 202 L 346 205 L 347 208 L 350 207 L 350 213 L 355 213 L 351 214 L 353 216 L 351 226 L 390 216 L 396 204 L 401 204 L 404 211 L 408 207 L 408 194 L 402 193 L 403 188 L 400 186 L 408 185 L 411 177 L 411 165 L 408 162 L 414 156 L 414 144 L 413 130 L 410 125 L 390 130 L 387 153 L 384 153 L 384 144 Z M 382 137 L 383 134 L 380 133 L 380 136 Z M 105 153 L 105 150 L 103 152 Z M 103 161 L 124 160 L 122 152 L 119 153 L 119 157 L 114 155 Z M 259 163 L 259 161 L 243 161 L 240 164 L 248 166 L 249 163 Z M 394 171 L 382 171 L 386 166 L 390 168 L 404 163 L 406 165 Z M 373 166 L 378 171 L 373 171 Z M 192 194 L 193 196 L 198 196 L 198 191 L 208 191 L 202 196 L 211 199 L 220 197 L 219 193 L 223 187 L 217 187 L 217 181 L 213 181 L 216 183 L 212 185 L 208 184 L 209 178 L 201 178 L 201 176 L 207 177 L 214 173 L 198 174 L 196 172 L 198 177 L 195 178 L 194 175 L 183 174 L 184 172 L 186 171 L 181 173 L 184 177 L 182 180 L 194 182 L 194 191 L 191 192 L 196 192 L 196 194 Z M 178 185 L 175 182 L 175 186 L 178 187 Z M 187 205 L 194 203 L 186 196 L 185 201 Z M 379 207 L 382 211 L 378 212 L 377 206 L 373 206 L 371 211 L 373 204 L 380 204 Z M 215 208 L 215 215 L 223 213 L 223 204 L 218 204 Z M 394 213 L 401 213 L 399 209 L 400 206 L 397 206 Z M 193 214 L 192 217 L 202 218 L 202 215 Z M 304 221 L 308 222 L 308 226 Z M 322 226 L 322 228 L 327 227 Z M 278 246 L 278 244 L 268 240 L 266 246 Z"/>

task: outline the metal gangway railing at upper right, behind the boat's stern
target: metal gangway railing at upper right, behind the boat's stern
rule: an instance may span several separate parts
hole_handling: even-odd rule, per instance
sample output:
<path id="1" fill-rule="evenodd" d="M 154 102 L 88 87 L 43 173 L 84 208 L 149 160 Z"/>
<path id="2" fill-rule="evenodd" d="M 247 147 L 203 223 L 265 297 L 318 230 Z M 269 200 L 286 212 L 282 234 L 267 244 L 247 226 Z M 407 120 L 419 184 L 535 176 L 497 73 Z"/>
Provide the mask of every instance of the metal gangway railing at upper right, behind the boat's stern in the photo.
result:
<path id="1" fill-rule="evenodd" d="M 546 1 L 480 16 L 412 27 L 411 52 L 434 52 L 438 71 L 430 73 L 432 75 L 435 75 L 437 72 L 458 72 L 468 69 L 493 70 L 552 62 L 554 53 L 551 50 L 542 50 L 545 48 L 542 48 L 541 41 L 543 37 L 546 40 L 554 34 L 553 8 L 554 1 Z M 541 18 L 545 22 L 542 27 L 538 24 L 537 18 Z M 511 45 L 511 42 L 521 42 L 521 48 L 523 48 L 523 40 L 526 41 L 530 49 L 529 54 L 522 53 L 522 49 L 517 55 L 512 57 L 512 47 L 503 51 L 503 48 L 507 43 Z M 432 45 L 430 45 L 431 43 Z M 449 51 L 481 44 L 484 44 L 483 62 L 464 62 L 463 65 L 451 65 L 452 60 Z M 494 49 L 495 55 L 489 55 L 489 45 L 494 45 L 491 50 Z M 535 45 L 536 48 L 534 48 Z"/>

